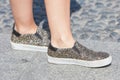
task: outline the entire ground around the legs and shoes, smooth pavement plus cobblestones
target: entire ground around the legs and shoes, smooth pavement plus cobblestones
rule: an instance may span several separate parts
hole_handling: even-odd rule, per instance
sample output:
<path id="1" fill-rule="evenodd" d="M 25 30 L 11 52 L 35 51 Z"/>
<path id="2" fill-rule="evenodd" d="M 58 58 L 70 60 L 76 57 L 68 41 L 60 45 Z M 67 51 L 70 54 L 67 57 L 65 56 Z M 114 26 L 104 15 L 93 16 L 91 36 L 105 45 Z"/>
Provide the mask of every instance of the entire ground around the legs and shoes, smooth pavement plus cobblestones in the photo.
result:
<path id="1" fill-rule="evenodd" d="M 74 37 L 90 49 L 109 52 L 113 56 L 112 65 L 104 68 L 54 65 L 47 62 L 47 53 L 11 49 L 13 16 L 9 0 L 0 0 L 0 80 L 120 80 L 120 0 L 72 1 Z M 81 9 L 76 6 L 79 4 Z M 36 21 L 38 18 L 44 22 L 46 15 L 41 5 L 35 0 L 34 16 Z"/>

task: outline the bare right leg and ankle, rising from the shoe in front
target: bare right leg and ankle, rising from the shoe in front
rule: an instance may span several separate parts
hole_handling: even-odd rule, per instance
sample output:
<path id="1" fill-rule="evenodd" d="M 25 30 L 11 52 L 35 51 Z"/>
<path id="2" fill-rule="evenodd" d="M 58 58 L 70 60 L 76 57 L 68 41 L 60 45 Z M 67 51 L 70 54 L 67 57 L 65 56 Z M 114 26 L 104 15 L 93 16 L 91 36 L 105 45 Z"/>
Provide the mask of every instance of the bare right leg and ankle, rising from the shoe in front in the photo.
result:
<path id="1" fill-rule="evenodd" d="M 45 0 L 51 31 L 51 44 L 57 48 L 70 48 L 74 45 L 70 29 L 70 0 Z"/>

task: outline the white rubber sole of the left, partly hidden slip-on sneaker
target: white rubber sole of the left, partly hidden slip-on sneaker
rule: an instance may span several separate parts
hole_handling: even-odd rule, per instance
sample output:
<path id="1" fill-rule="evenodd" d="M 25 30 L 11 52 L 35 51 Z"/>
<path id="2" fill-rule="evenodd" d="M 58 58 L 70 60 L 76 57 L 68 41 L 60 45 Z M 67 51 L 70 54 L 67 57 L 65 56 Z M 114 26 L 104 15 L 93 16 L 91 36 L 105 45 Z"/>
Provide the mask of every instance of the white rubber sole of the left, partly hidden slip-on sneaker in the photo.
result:
<path id="1" fill-rule="evenodd" d="M 47 52 L 48 47 L 41 47 L 41 46 L 33 46 L 33 45 L 25 45 L 25 44 L 17 44 L 12 41 L 10 41 L 11 46 L 15 50 L 26 50 L 26 51 L 41 51 L 41 52 Z"/>

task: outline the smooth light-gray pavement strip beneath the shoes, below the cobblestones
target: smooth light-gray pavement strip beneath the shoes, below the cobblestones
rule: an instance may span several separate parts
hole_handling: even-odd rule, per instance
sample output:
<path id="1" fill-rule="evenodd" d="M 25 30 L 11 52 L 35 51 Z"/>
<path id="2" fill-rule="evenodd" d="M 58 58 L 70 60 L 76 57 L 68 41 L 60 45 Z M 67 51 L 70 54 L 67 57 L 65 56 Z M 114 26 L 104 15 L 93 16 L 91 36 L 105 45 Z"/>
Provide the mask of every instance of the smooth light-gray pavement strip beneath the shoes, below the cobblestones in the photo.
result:
<path id="1" fill-rule="evenodd" d="M 113 56 L 111 66 L 86 68 L 75 65 L 54 65 L 47 62 L 46 53 L 12 50 L 10 35 L 0 35 L 0 80 L 119 80 L 120 44 L 79 40 L 96 51 Z M 3 44 L 4 43 L 4 44 Z"/>

